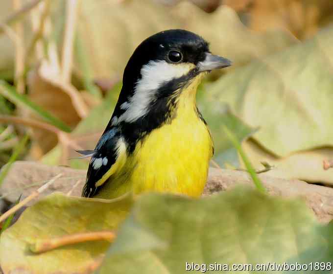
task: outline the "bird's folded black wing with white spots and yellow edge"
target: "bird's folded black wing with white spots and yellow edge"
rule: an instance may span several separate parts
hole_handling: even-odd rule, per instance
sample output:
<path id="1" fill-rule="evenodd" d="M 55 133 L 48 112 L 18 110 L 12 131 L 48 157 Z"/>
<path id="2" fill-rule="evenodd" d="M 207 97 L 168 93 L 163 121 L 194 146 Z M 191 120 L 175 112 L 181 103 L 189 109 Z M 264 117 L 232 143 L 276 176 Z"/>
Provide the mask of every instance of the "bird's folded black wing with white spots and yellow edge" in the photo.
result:
<path id="1" fill-rule="evenodd" d="M 119 161 L 125 154 L 123 145 L 117 128 L 103 133 L 90 160 L 82 197 L 95 196 L 100 186 L 119 168 Z"/>

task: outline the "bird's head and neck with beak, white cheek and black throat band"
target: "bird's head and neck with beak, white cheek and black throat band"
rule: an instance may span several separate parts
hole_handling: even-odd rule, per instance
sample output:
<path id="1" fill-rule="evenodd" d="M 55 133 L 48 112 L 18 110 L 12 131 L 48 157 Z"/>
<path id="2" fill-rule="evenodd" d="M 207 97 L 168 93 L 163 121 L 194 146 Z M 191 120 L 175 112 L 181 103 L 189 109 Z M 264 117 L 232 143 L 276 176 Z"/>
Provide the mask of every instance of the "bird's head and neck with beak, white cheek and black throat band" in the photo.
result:
<path id="1" fill-rule="evenodd" d="M 200 82 L 197 76 L 230 65 L 228 59 L 211 54 L 208 43 L 190 31 L 171 29 L 150 36 L 127 63 L 107 130 L 119 127 L 137 140 L 176 115 L 177 98 L 186 94 L 185 87 Z M 195 108 L 195 92 L 191 98 Z"/>

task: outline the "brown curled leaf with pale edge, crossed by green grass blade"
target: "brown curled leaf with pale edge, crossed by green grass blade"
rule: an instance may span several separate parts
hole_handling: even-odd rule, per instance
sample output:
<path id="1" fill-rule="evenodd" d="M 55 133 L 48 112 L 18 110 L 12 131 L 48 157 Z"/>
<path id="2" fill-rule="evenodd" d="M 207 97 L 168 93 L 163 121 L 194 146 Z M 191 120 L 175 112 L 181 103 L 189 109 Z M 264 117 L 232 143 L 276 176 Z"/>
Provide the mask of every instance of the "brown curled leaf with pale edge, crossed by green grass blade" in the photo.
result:
<path id="1" fill-rule="evenodd" d="M 46 60 L 37 70 L 30 71 L 28 77 L 29 99 L 46 109 L 71 128 L 88 114 L 87 104 L 82 95 L 69 83 L 64 83 L 58 71 Z M 34 114 L 33 118 L 38 119 Z M 33 130 L 33 144 L 30 156 L 39 159 L 58 142 L 54 133 L 46 130 Z"/>

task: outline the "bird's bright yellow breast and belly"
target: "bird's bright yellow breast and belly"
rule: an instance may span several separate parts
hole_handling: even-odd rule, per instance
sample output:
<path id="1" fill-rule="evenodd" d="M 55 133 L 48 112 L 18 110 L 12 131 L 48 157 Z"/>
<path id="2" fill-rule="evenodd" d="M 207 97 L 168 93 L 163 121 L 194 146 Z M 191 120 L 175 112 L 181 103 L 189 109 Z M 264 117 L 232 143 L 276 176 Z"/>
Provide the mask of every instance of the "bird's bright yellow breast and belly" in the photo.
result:
<path id="1" fill-rule="evenodd" d="M 179 95 L 174 118 L 137 143 L 122 169 L 105 183 L 105 191 L 96 197 L 114 198 L 131 190 L 194 197 L 202 194 L 213 143 L 196 110 L 197 81 Z"/>

